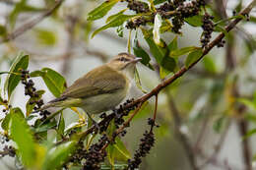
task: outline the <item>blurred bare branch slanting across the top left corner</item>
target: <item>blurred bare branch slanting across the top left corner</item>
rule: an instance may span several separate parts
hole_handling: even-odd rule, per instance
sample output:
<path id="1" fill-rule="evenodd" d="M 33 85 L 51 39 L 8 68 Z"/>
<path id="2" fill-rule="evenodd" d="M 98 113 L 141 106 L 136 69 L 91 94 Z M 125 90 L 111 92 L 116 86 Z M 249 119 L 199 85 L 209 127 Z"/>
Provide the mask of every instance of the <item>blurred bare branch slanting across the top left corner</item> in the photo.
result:
<path id="1" fill-rule="evenodd" d="M 4 43 L 4 42 L 10 41 L 10 40 L 13 40 L 16 37 L 23 34 L 24 32 L 26 32 L 27 30 L 33 28 L 35 25 L 40 23 L 43 19 L 49 17 L 52 13 L 54 13 L 55 10 L 62 4 L 62 2 L 63 2 L 63 0 L 56 0 L 56 4 L 49 11 L 46 11 L 45 13 L 43 13 L 39 17 L 35 18 L 34 20 L 24 24 L 20 28 L 17 28 L 13 32 L 9 33 L 6 37 L 0 39 L 0 43 Z"/>

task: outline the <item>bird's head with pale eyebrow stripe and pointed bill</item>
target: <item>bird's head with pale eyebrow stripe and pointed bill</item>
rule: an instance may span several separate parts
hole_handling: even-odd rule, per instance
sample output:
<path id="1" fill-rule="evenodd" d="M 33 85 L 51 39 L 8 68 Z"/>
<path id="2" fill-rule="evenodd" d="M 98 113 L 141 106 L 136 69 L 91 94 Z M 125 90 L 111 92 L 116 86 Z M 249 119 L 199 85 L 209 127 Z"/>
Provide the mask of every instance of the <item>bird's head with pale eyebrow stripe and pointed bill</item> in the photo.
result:
<path id="1" fill-rule="evenodd" d="M 136 63 L 141 61 L 132 54 L 119 53 L 107 65 L 116 71 L 134 71 Z"/>

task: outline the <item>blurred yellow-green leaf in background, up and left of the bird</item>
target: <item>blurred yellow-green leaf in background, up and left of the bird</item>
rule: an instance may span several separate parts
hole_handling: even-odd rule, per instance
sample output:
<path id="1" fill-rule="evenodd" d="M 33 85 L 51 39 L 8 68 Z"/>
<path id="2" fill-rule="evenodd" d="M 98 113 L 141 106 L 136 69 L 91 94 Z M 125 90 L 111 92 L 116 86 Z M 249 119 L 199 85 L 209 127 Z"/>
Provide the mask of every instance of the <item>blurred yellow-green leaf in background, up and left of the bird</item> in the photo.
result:
<path id="1" fill-rule="evenodd" d="M 56 33 L 43 28 L 33 29 L 39 43 L 44 45 L 54 45 L 57 42 Z"/>

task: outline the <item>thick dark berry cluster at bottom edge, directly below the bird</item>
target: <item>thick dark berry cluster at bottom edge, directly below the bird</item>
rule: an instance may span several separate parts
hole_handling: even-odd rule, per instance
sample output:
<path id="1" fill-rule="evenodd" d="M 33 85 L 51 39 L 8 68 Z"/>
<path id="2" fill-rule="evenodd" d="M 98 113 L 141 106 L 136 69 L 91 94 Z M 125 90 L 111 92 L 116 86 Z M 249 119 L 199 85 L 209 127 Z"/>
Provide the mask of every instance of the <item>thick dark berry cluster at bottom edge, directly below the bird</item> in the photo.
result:
<path id="1" fill-rule="evenodd" d="M 98 142 L 92 144 L 89 150 L 85 153 L 86 162 L 83 164 L 83 170 L 99 170 L 100 162 L 104 161 L 106 156 L 105 149 L 102 149 L 104 144 L 109 142 L 106 135 L 103 135 Z"/>

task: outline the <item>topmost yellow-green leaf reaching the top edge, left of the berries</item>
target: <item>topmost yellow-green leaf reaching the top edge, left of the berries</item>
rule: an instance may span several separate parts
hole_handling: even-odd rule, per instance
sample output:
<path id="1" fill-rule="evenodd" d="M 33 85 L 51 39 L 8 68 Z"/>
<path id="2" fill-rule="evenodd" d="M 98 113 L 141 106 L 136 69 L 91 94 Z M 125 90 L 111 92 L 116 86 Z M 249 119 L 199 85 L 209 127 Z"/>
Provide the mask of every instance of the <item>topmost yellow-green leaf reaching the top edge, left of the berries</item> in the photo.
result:
<path id="1" fill-rule="evenodd" d="M 103 2 L 101 5 L 99 5 L 98 7 L 96 7 L 96 9 L 94 9 L 93 11 L 91 11 L 88 14 L 88 19 L 89 21 L 94 21 L 97 19 L 101 19 L 102 17 L 104 17 L 108 11 L 111 10 L 111 8 L 118 2 L 119 0 L 108 0 Z"/>

